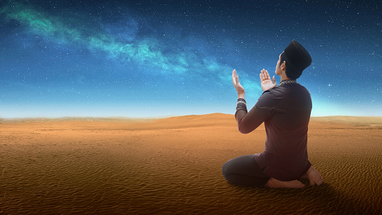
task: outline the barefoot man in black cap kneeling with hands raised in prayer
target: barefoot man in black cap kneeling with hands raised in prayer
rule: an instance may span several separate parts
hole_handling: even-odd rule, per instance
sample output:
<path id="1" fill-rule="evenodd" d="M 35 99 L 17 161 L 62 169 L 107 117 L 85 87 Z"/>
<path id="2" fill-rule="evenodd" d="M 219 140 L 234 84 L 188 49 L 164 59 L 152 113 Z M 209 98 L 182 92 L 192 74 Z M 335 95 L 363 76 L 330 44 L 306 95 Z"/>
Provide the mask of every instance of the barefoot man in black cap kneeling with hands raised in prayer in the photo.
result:
<path id="1" fill-rule="evenodd" d="M 300 178 L 308 178 L 310 185 L 321 185 L 323 177 L 307 158 L 307 130 L 312 111 L 309 91 L 296 82 L 312 58 L 303 46 L 293 40 L 278 57 L 276 75 L 280 85 L 273 82 L 268 71 L 262 69 L 262 95 L 247 112 L 245 90 L 236 70 L 232 82 L 238 91 L 235 118 L 241 133 L 254 131 L 265 124 L 265 151 L 240 156 L 222 166 L 226 180 L 236 185 L 254 187 L 305 187 Z"/>

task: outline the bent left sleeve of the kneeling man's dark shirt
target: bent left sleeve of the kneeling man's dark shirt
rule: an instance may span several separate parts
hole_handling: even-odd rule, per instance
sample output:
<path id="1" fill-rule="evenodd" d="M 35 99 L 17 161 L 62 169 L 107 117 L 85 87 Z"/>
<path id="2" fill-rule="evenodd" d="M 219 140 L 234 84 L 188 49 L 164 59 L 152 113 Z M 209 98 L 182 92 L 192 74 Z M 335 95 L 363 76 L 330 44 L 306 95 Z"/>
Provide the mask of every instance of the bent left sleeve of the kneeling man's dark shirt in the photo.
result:
<path id="1" fill-rule="evenodd" d="M 258 102 L 247 112 L 247 104 L 244 99 L 238 99 L 235 118 L 238 122 L 240 133 L 250 133 L 262 124 L 274 113 L 275 99 L 271 91 L 264 91 Z"/>

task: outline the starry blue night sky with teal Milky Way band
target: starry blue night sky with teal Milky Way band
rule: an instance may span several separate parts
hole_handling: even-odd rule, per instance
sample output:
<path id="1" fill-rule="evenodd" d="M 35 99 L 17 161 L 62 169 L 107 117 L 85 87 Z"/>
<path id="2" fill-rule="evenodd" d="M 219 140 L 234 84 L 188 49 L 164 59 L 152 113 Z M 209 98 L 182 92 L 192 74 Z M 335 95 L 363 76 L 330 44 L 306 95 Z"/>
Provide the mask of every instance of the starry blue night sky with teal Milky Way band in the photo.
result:
<path id="1" fill-rule="evenodd" d="M 233 68 L 251 109 L 292 39 L 312 56 L 312 116 L 382 115 L 381 1 L 0 6 L 0 118 L 234 114 Z"/>

